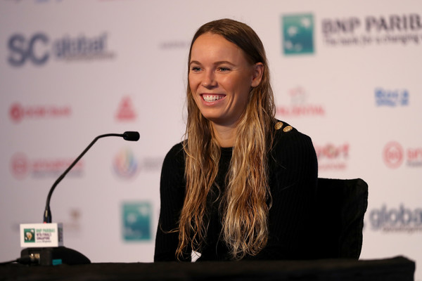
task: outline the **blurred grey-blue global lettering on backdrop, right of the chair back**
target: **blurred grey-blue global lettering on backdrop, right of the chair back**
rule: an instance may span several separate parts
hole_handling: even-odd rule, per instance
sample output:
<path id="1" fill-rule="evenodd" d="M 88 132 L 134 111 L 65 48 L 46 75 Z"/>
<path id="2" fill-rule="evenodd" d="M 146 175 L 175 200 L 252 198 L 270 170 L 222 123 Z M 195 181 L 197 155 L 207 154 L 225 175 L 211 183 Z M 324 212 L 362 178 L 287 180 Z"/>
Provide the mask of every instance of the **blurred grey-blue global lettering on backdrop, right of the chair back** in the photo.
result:
<path id="1" fill-rule="evenodd" d="M 383 232 L 414 233 L 422 231 L 422 208 L 410 209 L 400 204 L 398 208 L 373 209 L 369 213 L 373 230 Z"/>

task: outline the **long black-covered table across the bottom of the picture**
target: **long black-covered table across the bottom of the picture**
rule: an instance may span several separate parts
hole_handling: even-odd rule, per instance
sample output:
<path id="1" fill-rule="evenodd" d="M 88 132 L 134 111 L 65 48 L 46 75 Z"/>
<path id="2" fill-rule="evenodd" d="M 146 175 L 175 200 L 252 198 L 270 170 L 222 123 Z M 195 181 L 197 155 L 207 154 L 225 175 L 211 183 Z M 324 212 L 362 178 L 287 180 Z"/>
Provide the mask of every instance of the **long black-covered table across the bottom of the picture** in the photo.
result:
<path id="1" fill-rule="evenodd" d="M 231 261 L 198 263 L 91 263 L 0 266 L 0 280 L 414 280 L 415 263 L 390 259 Z"/>

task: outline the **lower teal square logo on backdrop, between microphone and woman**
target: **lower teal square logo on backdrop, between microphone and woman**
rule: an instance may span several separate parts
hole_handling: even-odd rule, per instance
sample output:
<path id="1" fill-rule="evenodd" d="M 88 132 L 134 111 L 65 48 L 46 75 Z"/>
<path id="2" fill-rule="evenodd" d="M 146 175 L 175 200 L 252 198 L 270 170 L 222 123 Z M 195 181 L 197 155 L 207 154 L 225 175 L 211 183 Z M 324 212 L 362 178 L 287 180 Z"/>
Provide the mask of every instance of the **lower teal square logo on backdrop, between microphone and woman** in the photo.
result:
<path id="1" fill-rule="evenodd" d="M 127 202 L 123 204 L 123 239 L 124 241 L 151 240 L 150 202 Z"/>

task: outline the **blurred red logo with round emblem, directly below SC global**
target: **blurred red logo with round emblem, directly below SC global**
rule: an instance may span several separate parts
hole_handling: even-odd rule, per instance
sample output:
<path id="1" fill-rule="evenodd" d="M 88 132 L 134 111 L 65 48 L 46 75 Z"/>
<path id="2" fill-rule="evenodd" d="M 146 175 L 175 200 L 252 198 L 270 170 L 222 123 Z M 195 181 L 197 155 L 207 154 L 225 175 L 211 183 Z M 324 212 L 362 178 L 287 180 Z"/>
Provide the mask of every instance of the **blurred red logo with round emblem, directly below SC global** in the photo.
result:
<path id="1" fill-rule="evenodd" d="M 20 122 L 23 119 L 41 119 L 68 117 L 72 113 L 70 106 L 63 105 L 29 105 L 23 106 L 20 103 L 13 103 L 9 110 L 9 116 L 13 122 Z"/>

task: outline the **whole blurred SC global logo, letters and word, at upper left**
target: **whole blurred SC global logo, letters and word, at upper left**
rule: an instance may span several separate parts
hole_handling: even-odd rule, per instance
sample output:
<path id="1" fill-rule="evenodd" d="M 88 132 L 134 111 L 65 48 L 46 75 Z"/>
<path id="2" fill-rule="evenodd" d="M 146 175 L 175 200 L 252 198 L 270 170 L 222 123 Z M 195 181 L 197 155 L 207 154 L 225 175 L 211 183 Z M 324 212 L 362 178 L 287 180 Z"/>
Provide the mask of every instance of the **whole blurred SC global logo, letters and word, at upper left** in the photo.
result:
<path id="1" fill-rule="evenodd" d="M 110 59 L 115 55 L 108 51 L 107 44 L 106 32 L 94 37 L 65 35 L 54 40 L 42 32 L 30 36 L 13 34 L 7 44 L 8 63 L 20 67 L 27 62 L 44 65 L 51 57 L 65 61 Z"/>

